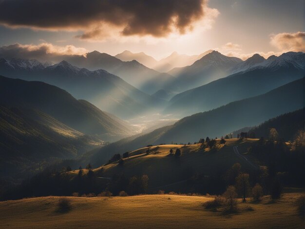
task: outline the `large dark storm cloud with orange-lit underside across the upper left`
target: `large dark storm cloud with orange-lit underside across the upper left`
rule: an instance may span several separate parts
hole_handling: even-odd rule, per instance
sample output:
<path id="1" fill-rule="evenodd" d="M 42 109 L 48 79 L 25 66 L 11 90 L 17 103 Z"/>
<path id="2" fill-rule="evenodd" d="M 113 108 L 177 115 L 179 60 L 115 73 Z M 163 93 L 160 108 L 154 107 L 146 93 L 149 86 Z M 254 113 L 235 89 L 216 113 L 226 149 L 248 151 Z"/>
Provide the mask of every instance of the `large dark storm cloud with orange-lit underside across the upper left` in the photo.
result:
<path id="1" fill-rule="evenodd" d="M 0 0 L 0 23 L 41 29 L 81 29 L 84 38 L 110 24 L 128 35 L 184 33 L 204 16 L 206 0 Z M 80 36 L 80 37 L 82 37 Z"/>

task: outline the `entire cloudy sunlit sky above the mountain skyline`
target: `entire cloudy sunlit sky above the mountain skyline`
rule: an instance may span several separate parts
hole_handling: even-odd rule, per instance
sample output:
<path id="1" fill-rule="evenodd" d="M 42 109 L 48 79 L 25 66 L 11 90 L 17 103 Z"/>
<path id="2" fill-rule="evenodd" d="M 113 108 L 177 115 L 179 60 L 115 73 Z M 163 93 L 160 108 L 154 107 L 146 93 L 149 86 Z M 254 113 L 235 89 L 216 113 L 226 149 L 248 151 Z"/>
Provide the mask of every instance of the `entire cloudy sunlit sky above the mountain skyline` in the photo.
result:
<path id="1" fill-rule="evenodd" d="M 305 52 L 304 0 L 1 0 L 0 56 Z"/>

